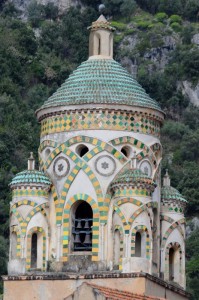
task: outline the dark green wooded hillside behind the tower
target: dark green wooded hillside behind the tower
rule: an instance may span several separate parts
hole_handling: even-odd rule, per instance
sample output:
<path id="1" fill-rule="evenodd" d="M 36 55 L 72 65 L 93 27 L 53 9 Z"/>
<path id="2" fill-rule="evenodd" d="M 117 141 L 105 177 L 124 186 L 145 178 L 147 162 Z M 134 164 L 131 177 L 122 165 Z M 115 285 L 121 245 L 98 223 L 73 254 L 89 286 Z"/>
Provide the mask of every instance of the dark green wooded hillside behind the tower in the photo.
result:
<path id="1" fill-rule="evenodd" d="M 101 1 L 82 0 L 85 9 L 58 13 L 52 3 L 32 2 L 28 20 L 11 3 L 0 3 L 0 273 L 6 273 L 9 236 L 8 184 L 26 168 L 30 151 L 37 153 L 39 125 L 34 111 L 88 56 L 87 27 L 98 17 Z M 163 172 L 187 198 L 187 217 L 199 216 L 199 109 L 181 92 L 182 81 L 199 81 L 199 51 L 191 40 L 198 31 L 198 0 L 104 1 L 112 16 L 115 56 L 138 65 L 138 81 L 167 114 L 162 128 Z M 153 3 L 152 3 L 153 2 Z M 116 5 L 117 4 L 117 5 Z M 194 21 L 190 23 L 187 20 Z M 186 21 L 186 22 L 185 22 Z M 172 45 L 165 44 L 171 39 Z M 130 40 L 135 39 L 131 47 Z M 159 52 L 167 49 L 164 67 Z M 165 49 L 164 48 L 164 49 Z M 157 52 L 157 61 L 151 59 Z M 159 51 L 159 52 L 158 52 Z M 198 298 L 199 235 L 187 241 L 188 289 Z"/>

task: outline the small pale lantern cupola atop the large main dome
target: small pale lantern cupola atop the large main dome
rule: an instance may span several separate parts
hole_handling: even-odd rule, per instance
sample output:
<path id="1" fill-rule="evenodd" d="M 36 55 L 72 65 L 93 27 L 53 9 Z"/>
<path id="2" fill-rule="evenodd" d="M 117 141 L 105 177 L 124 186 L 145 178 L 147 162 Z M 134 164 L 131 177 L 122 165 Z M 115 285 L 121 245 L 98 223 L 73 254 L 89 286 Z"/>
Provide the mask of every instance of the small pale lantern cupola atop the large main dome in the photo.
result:
<path id="1" fill-rule="evenodd" d="M 101 15 L 88 29 L 91 30 L 89 38 L 89 57 L 113 58 L 113 31 L 114 27 Z"/>

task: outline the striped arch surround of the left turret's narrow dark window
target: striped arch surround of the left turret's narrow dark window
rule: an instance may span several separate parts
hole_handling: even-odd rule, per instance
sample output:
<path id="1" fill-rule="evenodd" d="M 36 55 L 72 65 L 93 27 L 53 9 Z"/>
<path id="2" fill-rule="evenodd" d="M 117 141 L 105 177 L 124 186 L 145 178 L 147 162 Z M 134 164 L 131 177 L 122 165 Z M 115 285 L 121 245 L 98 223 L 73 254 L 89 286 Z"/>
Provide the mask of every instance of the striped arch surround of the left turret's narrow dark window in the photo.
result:
<path id="1" fill-rule="evenodd" d="M 33 227 L 29 230 L 27 234 L 27 254 L 26 254 L 26 271 L 30 271 L 31 268 L 31 239 L 33 233 L 41 233 L 43 236 L 43 243 L 42 243 L 42 251 L 41 253 L 43 254 L 42 256 L 42 271 L 46 270 L 46 233 L 43 230 L 42 227 Z"/>

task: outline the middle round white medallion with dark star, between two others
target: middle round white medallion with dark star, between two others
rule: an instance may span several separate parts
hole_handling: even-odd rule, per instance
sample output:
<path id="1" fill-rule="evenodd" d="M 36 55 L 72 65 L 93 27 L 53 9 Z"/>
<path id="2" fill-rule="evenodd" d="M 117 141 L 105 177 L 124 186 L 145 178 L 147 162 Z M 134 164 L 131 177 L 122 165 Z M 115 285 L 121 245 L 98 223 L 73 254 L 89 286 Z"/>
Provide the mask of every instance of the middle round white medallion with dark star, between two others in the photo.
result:
<path id="1" fill-rule="evenodd" d="M 95 169 L 102 176 L 110 176 L 115 172 L 116 163 L 111 156 L 102 155 L 96 159 Z"/>

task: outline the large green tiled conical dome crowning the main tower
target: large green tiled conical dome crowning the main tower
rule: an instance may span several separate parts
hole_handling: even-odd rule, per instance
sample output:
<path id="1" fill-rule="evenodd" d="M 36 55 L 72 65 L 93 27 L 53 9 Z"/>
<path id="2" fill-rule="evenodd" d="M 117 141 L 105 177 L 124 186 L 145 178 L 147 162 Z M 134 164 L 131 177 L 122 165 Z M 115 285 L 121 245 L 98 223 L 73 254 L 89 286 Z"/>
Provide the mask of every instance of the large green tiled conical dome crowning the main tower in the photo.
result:
<path id="1" fill-rule="evenodd" d="M 161 111 L 138 82 L 115 60 L 90 58 L 83 62 L 41 107 L 110 103 Z"/>

